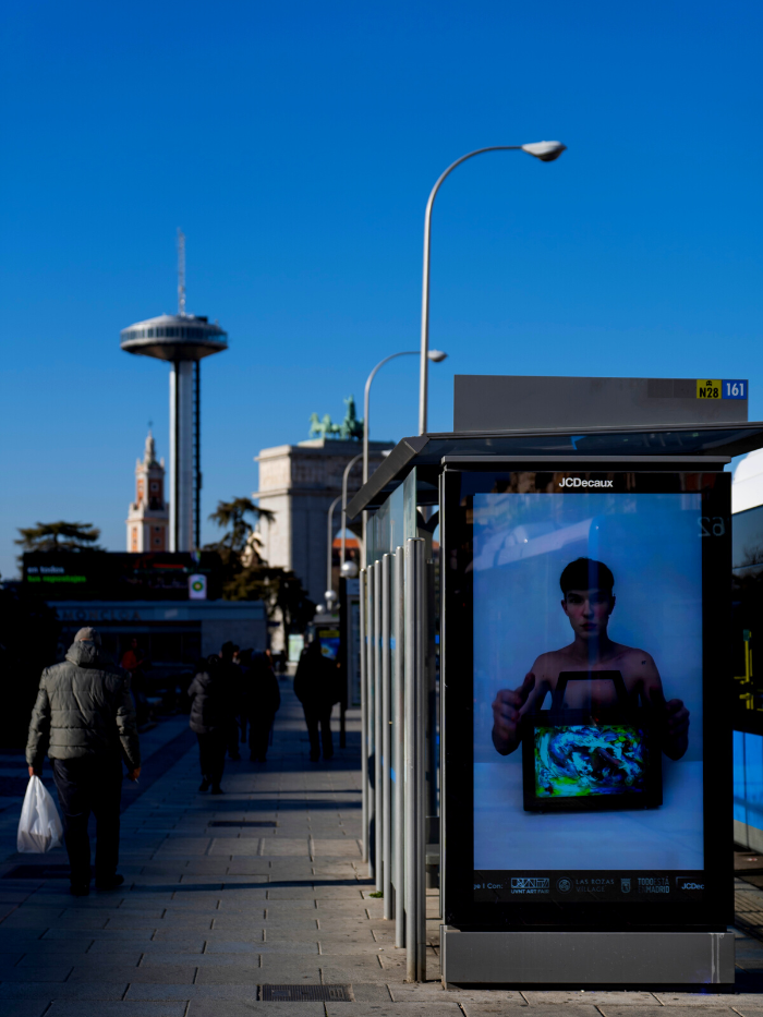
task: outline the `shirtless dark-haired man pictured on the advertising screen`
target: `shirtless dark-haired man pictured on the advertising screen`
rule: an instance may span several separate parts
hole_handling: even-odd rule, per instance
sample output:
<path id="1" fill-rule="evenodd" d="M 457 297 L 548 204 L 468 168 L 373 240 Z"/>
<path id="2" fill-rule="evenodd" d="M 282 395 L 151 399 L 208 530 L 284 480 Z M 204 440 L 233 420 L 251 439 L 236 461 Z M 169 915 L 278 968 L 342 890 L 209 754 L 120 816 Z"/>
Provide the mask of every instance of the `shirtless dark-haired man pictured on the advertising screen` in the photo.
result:
<path id="1" fill-rule="evenodd" d="M 657 666 L 645 650 L 625 646 L 609 639 L 607 628 L 615 609 L 615 577 L 603 561 L 577 558 L 564 569 L 559 585 L 561 609 L 574 632 L 568 646 L 542 653 L 524 681 L 516 689 L 500 689 L 493 702 L 493 744 L 508 755 L 522 740 L 521 719 L 556 689 L 561 671 L 619 670 L 631 700 L 643 702 L 662 715 L 663 751 L 679 760 L 689 747 L 689 711 L 682 700 L 666 701 Z M 573 683 L 577 685 L 577 683 Z M 593 688 L 568 686 L 565 702 L 581 705 L 583 697 L 601 706 L 615 704 L 611 681 L 592 682 Z"/>

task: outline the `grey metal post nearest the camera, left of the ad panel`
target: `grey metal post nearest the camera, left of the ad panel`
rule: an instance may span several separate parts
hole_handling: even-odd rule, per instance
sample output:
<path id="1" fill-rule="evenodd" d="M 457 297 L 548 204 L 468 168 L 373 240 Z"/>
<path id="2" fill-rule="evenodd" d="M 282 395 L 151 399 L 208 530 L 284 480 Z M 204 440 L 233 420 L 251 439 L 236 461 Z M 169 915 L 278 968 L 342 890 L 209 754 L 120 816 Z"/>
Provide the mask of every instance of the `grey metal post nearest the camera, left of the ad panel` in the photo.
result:
<path id="1" fill-rule="evenodd" d="M 405 541 L 405 972 L 407 981 L 419 978 L 420 888 L 423 873 L 419 872 L 419 540 Z"/>

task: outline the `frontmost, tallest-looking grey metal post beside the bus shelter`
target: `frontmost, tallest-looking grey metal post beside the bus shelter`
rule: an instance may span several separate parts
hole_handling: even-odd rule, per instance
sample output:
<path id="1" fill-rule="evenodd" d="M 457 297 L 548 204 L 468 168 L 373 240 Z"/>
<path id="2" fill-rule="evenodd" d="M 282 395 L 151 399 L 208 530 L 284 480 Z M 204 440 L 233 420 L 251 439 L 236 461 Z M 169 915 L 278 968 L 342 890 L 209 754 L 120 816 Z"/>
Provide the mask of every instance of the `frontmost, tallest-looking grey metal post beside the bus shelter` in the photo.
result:
<path id="1" fill-rule="evenodd" d="M 405 968 L 426 978 L 423 699 L 424 542 L 405 542 Z"/>

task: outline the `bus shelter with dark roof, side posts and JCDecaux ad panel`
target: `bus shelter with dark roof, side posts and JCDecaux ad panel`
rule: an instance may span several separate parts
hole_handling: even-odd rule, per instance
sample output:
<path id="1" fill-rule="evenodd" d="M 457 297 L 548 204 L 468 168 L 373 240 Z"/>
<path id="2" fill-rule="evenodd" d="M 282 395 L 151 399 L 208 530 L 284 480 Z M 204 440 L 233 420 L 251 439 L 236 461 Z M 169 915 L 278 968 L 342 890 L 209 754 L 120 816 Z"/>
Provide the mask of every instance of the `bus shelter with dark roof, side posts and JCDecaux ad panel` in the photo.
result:
<path id="1" fill-rule="evenodd" d="M 363 850 L 408 978 L 734 982 L 731 457 L 763 423 L 404 438 L 348 507 Z"/>

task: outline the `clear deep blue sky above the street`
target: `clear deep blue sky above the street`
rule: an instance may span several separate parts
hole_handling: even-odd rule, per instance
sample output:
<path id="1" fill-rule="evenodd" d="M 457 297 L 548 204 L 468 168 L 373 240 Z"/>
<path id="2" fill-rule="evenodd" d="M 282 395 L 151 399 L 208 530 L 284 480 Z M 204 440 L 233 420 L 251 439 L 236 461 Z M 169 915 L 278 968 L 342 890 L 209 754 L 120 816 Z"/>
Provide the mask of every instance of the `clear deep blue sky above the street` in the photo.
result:
<path id="1" fill-rule="evenodd" d="M 124 548 L 168 368 L 119 330 L 175 307 L 204 363 L 204 510 L 258 449 L 342 416 L 419 341 L 435 210 L 431 427 L 455 373 L 749 377 L 763 417 L 761 78 L 753 2 L 9 2 L 0 14 L 0 571 L 15 528 L 73 519 Z M 372 433 L 416 429 L 416 364 Z M 213 531 L 207 526 L 205 538 Z"/>

